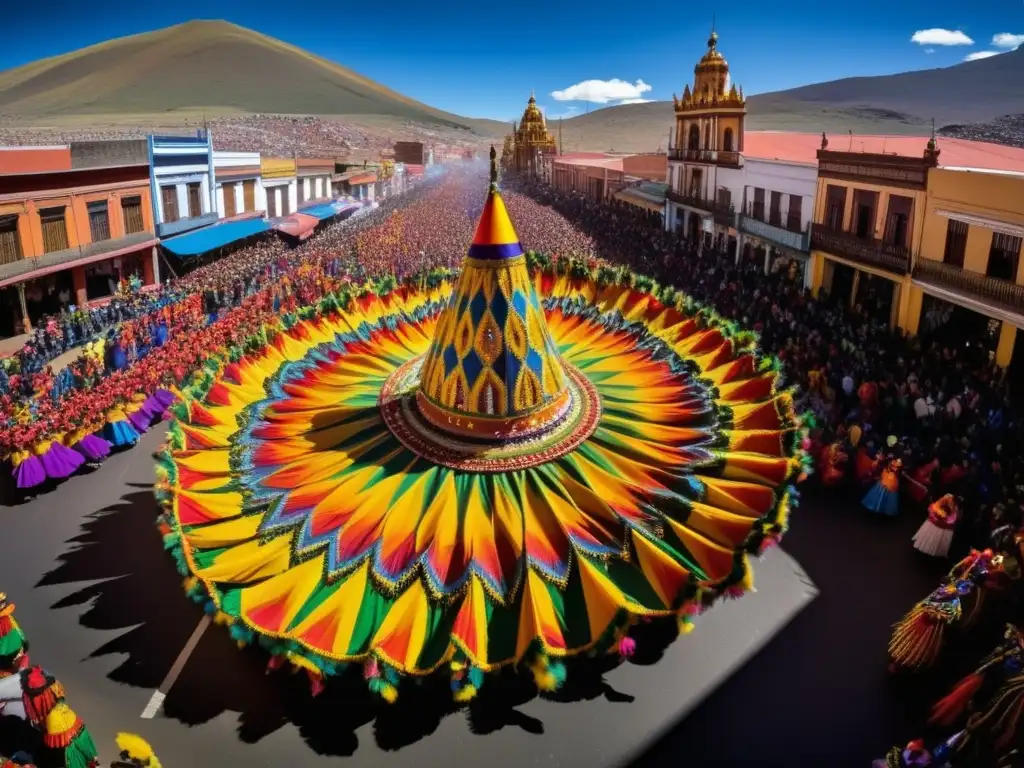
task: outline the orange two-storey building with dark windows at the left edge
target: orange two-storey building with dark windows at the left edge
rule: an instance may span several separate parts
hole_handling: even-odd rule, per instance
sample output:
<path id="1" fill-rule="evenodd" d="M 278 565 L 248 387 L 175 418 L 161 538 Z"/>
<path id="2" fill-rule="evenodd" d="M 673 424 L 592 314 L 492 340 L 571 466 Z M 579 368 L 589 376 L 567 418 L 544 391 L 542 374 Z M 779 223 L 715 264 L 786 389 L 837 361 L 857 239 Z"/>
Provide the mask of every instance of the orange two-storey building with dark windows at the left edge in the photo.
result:
<path id="1" fill-rule="evenodd" d="M 108 143 L 120 146 L 106 160 L 124 164 L 93 165 L 74 147 L 55 164 L 47 148 L 31 172 L 36 151 L 0 153 L 4 169 L 22 170 L 0 174 L 0 336 L 109 297 L 132 274 L 159 280 L 145 144 Z"/>

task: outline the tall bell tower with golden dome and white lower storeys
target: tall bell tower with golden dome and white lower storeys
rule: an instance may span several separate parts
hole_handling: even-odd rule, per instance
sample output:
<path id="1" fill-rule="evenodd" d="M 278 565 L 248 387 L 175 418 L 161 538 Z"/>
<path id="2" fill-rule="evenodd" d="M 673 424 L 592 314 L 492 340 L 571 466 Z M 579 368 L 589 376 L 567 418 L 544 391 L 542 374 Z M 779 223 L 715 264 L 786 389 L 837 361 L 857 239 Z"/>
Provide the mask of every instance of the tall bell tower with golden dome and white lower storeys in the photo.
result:
<path id="1" fill-rule="evenodd" d="M 693 76 L 692 90 L 687 85 L 682 98 L 672 97 L 676 120 L 668 155 L 666 226 L 693 243 L 727 238 L 735 248 L 746 104 L 742 90 L 730 84 L 715 32 Z"/>

